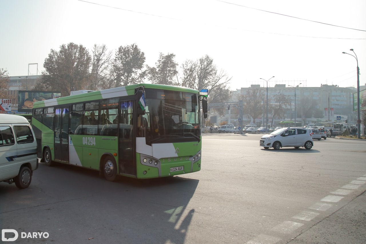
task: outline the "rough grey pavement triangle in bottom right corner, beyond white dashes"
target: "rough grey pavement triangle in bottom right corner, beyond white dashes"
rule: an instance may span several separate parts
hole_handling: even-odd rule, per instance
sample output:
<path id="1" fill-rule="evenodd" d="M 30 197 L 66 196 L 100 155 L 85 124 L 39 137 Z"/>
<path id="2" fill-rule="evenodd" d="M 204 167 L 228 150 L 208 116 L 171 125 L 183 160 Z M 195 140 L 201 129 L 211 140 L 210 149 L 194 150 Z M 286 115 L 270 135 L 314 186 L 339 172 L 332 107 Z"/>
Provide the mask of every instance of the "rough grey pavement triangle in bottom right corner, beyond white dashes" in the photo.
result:
<path id="1" fill-rule="evenodd" d="M 366 191 L 290 244 L 366 244 Z"/>

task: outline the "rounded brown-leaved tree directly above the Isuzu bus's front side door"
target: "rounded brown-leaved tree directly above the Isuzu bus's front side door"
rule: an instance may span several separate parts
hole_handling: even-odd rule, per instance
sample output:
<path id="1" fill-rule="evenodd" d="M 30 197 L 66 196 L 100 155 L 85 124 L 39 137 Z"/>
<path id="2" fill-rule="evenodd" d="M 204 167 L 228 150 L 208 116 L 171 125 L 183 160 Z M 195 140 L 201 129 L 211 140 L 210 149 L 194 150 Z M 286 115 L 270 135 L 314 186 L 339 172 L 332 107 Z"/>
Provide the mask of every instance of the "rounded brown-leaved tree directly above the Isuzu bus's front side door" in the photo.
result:
<path id="1" fill-rule="evenodd" d="M 113 62 L 116 87 L 138 84 L 143 81 L 146 71 L 143 70 L 145 53 L 136 44 L 120 46 Z"/>

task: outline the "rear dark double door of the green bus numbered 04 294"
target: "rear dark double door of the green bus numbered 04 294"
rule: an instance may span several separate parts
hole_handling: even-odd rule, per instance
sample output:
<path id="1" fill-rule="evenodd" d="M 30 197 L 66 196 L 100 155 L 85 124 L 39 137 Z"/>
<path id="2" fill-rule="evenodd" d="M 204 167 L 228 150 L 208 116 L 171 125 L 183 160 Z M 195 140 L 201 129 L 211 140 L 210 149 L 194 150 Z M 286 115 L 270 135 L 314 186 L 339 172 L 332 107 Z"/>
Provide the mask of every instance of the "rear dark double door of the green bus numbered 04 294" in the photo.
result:
<path id="1" fill-rule="evenodd" d="M 55 160 L 69 162 L 69 108 L 56 108 L 55 111 Z"/>

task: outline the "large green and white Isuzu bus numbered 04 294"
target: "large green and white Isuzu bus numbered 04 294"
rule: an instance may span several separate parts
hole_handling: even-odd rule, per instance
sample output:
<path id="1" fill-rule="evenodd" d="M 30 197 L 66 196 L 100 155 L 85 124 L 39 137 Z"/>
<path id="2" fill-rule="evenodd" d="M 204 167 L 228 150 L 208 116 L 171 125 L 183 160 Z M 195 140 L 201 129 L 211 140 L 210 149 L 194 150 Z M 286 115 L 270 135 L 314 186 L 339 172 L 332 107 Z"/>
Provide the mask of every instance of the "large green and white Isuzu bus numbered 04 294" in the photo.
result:
<path id="1" fill-rule="evenodd" d="M 199 171 L 207 92 L 137 84 L 37 101 L 38 158 L 98 170 L 109 181 Z"/>

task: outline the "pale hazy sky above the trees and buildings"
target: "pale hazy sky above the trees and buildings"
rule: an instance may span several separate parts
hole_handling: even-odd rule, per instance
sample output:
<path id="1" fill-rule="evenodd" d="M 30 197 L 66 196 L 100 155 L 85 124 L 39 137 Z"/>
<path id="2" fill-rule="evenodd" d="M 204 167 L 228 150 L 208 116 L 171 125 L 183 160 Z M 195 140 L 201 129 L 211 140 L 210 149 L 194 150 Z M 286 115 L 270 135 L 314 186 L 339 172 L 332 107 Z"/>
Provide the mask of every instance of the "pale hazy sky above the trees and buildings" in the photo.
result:
<path id="1" fill-rule="evenodd" d="M 365 85 L 365 10 L 365 0 L 0 0 L 0 68 L 44 71 L 51 49 L 69 42 L 113 52 L 136 43 L 149 66 L 160 52 L 179 64 L 209 55 L 233 90 L 272 76 L 270 87 L 356 87 L 356 59 L 342 52 L 354 49 Z"/>

